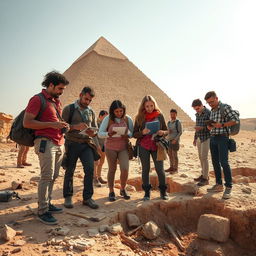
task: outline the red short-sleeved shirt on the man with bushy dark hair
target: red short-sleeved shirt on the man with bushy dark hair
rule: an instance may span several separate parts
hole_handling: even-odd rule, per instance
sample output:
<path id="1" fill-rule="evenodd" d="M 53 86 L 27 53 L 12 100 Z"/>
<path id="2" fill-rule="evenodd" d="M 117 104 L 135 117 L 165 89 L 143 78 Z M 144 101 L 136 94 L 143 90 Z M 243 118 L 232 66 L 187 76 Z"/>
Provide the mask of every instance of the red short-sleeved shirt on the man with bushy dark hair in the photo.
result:
<path id="1" fill-rule="evenodd" d="M 44 112 L 42 113 L 40 120 L 41 122 L 59 122 L 58 115 L 56 113 L 56 109 L 54 108 L 53 104 L 55 103 L 57 110 L 61 116 L 62 108 L 61 108 L 61 102 L 59 99 L 52 98 L 45 89 L 42 90 L 42 94 L 45 96 L 46 100 L 46 108 Z M 51 103 L 54 102 L 54 103 Z M 40 111 L 41 106 L 41 100 L 39 96 L 35 95 L 33 96 L 27 105 L 26 112 L 33 114 L 35 116 L 38 115 Z M 45 129 L 39 129 L 35 131 L 36 136 L 42 136 L 46 137 L 52 140 L 53 143 L 57 145 L 63 145 L 64 144 L 64 136 L 61 133 L 60 129 L 53 129 L 53 128 L 45 128 Z"/>

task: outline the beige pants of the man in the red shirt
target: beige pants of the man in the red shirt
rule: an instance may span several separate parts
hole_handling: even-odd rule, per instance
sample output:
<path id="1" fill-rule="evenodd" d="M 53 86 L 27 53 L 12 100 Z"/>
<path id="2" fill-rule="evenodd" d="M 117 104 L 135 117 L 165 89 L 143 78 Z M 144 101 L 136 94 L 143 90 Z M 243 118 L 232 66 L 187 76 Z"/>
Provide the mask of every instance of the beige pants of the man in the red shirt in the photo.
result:
<path id="1" fill-rule="evenodd" d="M 46 140 L 45 152 L 39 152 L 41 140 Z M 35 140 L 35 153 L 38 155 L 41 177 L 38 183 L 38 214 L 48 211 L 52 199 L 53 184 L 59 176 L 59 170 L 64 154 L 64 145 L 58 146 L 51 140 L 39 138 Z"/>

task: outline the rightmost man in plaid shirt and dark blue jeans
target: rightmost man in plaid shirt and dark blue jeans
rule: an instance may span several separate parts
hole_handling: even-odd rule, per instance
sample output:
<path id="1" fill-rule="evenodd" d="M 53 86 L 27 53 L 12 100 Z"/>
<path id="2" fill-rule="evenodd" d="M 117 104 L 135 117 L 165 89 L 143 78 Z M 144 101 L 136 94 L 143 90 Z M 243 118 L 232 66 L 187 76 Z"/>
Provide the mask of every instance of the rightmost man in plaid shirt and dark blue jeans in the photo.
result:
<path id="1" fill-rule="evenodd" d="M 206 93 L 204 99 L 210 105 L 211 114 L 210 120 L 212 123 L 208 124 L 210 130 L 210 151 L 212 156 L 212 164 L 215 173 L 216 184 L 207 189 L 208 192 L 221 192 L 223 191 L 221 167 L 225 179 L 225 191 L 223 199 L 231 198 L 232 190 L 232 174 L 228 162 L 228 143 L 229 143 L 229 127 L 235 125 L 239 121 L 237 113 L 232 110 L 229 105 L 223 104 L 223 115 L 221 113 L 221 102 L 214 91 Z"/>

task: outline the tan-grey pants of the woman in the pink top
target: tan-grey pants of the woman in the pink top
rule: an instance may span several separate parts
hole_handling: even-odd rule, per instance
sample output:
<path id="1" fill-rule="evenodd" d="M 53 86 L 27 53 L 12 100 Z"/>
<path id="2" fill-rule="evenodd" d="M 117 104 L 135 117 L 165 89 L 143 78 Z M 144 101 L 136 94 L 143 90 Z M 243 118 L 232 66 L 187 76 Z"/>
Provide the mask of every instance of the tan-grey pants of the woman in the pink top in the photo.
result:
<path id="1" fill-rule="evenodd" d="M 106 157 L 108 160 L 108 187 L 110 189 L 114 188 L 117 160 L 119 160 L 120 172 L 121 172 L 120 173 L 121 188 L 124 189 L 127 183 L 128 172 L 129 172 L 129 156 L 128 156 L 127 149 L 122 151 L 106 149 Z"/>

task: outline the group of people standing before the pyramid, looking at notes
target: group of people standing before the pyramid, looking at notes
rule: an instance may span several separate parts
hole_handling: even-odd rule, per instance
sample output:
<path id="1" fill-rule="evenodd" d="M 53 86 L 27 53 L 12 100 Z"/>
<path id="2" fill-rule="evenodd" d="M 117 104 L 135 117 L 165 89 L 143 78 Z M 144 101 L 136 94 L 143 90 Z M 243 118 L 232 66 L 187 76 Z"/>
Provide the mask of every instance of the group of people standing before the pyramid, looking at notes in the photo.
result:
<path id="1" fill-rule="evenodd" d="M 114 100 L 109 111 L 102 110 L 96 118 L 90 107 L 95 97 L 94 90 L 86 86 L 82 89 L 78 99 L 67 105 L 63 111 L 59 96 L 63 93 L 69 81 L 58 72 L 45 75 L 42 86 L 42 95 L 46 98 L 46 108 L 40 119 L 41 100 L 38 95 L 33 96 L 26 108 L 23 125 L 35 130 L 35 152 L 38 155 L 41 177 L 38 184 L 38 218 L 45 224 L 56 224 L 54 213 L 62 209 L 51 202 L 55 179 L 58 177 L 63 155 L 65 153 L 65 176 L 63 185 L 64 206 L 73 208 L 73 177 L 77 160 L 80 159 L 84 170 L 83 204 L 97 209 L 99 205 L 92 199 L 93 184 L 101 186 L 108 184 L 109 201 L 116 200 L 114 191 L 115 173 L 117 165 L 120 166 L 120 196 L 126 200 L 130 195 L 126 191 L 129 173 L 129 139 L 136 138 L 138 157 L 142 165 L 142 188 L 145 192 L 143 200 L 150 199 L 150 156 L 153 159 L 159 181 L 160 197 L 168 199 L 165 172 L 178 171 L 179 141 L 182 134 L 182 125 L 177 120 L 177 110 L 170 110 L 170 121 L 166 124 L 164 115 L 159 109 L 155 99 L 145 96 L 138 109 L 133 123 L 132 118 L 126 114 L 126 107 L 120 100 Z M 192 107 L 196 110 L 196 127 L 194 145 L 198 146 L 199 158 L 202 166 L 202 175 L 197 178 L 199 185 L 208 184 L 208 159 L 210 149 L 216 176 L 216 185 L 212 191 L 223 190 L 221 167 L 224 171 L 226 195 L 231 193 L 232 177 L 228 164 L 228 150 L 225 143 L 228 139 L 227 127 L 237 121 L 230 106 L 225 111 L 232 121 L 226 121 L 218 114 L 218 98 L 214 92 L 206 94 L 205 100 L 212 110 L 205 108 L 200 100 L 195 100 Z M 215 120 L 206 125 L 205 120 Z M 152 132 L 149 123 L 157 125 Z M 98 128 L 99 127 L 99 128 Z M 167 147 L 163 143 L 168 141 Z M 210 141 L 210 142 L 209 142 Z M 164 170 L 167 149 L 170 168 Z M 105 157 L 108 162 L 107 181 L 101 176 L 101 169 Z"/>

